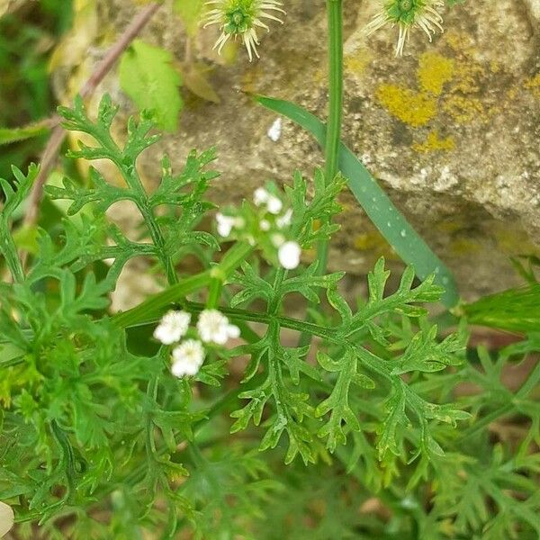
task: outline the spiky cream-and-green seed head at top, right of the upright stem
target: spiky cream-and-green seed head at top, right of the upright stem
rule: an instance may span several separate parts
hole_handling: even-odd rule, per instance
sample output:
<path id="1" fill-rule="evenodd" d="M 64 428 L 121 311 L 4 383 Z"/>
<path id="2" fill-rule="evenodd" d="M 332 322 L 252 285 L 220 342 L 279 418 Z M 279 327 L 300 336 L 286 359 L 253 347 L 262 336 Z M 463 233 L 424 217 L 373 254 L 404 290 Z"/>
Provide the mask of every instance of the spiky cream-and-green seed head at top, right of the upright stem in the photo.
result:
<path id="1" fill-rule="evenodd" d="M 397 24 L 400 27 L 400 35 L 396 44 L 396 56 L 401 56 L 405 42 L 409 40 L 411 28 L 421 28 L 428 34 L 430 41 L 437 29 L 444 31 L 441 26 L 443 17 L 438 12 L 444 6 L 444 0 L 386 1 L 381 11 L 365 27 L 365 33 L 369 36 L 386 24 L 392 24 L 392 27 Z"/>

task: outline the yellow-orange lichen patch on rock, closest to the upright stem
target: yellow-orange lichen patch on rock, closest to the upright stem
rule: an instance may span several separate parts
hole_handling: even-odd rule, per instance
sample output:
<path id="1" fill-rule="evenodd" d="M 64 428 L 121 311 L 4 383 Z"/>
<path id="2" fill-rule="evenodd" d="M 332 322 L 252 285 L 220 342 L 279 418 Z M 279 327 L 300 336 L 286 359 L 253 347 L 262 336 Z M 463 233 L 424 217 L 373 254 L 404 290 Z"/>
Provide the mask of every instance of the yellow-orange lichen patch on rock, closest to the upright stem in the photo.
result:
<path id="1" fill-rule="evenodd" d="M 413 127 L 423 126 L 437 114 L 437 100 L 397 85 L 380 85 L 377 101 L 399 120 Z"/>

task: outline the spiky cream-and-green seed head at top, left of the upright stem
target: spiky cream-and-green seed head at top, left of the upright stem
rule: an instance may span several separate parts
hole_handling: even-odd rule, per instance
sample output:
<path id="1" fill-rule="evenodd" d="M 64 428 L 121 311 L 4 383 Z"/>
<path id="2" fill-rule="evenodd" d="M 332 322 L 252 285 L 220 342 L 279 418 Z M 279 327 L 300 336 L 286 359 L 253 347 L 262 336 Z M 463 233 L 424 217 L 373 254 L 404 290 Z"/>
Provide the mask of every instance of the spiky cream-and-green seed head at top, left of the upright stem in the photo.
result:
<path id="1" fill-rule="evenodd" d="M 214 49 L 220 53 L 229 38 L 236 40 L 239 36 L 247 49 L 249 61 L 253 60 L 253 55 L 260 58 L 257 52 L 257 27 L 270 31 L 262 19 L 283 24 L 270 12 L 285 14 L 279 0 L 209 0 L 206 4 L 211 5 L 212 9 L 206 14 L 204 28 L 210 24 L 220 25 L 221 35 Z"/>

